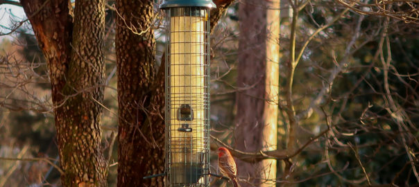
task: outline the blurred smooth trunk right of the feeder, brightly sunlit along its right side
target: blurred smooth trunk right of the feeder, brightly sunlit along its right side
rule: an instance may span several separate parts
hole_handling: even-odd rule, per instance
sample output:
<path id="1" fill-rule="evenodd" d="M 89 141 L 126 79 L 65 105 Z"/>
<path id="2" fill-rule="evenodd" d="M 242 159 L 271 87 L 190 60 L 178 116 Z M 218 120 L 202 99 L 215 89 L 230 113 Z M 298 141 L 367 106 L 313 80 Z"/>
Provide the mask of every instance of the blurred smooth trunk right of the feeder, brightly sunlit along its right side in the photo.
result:
<path id="1" fill-rule="evenodd" d="M 280 1 L 243 1 L 239 5 L 239 87 L 237 93 L 237 149 L 246 152 L 277 149 L 279 94 Z M 255 10 L 256 9 L 256 10 Z M 254 86 L 253 86 L 254 85 Z M 237 161 L 241 186 L 273 186 L 276 161 Z"/>

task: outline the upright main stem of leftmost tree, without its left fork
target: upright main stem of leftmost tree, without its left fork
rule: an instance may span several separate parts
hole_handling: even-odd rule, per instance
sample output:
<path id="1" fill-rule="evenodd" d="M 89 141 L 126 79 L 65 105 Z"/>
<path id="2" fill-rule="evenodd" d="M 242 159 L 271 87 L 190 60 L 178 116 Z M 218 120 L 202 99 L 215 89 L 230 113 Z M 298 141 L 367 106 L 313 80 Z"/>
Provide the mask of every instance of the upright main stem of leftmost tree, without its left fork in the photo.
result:
<path id="1" fill-rule="evenodd" d="M 107 186 L 101 154 L 101 113 L 105 62 L 105 2 L 76 1 L 71 60 L 56 121 L 64 184 Z M 80 172 L 83 171 L 83 172 Z"/>

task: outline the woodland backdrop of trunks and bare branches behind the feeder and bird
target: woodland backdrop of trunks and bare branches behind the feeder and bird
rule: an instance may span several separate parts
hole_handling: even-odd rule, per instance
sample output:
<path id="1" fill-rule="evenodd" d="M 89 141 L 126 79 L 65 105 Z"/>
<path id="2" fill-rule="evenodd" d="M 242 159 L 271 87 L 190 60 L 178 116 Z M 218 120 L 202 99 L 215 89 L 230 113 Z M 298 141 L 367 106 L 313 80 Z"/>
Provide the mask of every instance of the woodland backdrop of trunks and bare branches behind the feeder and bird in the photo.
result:
<path id="1" fill-rule="evenodd" d="M 78 2 L 0 1 L 0 186 L 162 186 L 160 2 Z M 211 147 L 242 186 L 418 186 L 418 1 L 214 3 Z"/>

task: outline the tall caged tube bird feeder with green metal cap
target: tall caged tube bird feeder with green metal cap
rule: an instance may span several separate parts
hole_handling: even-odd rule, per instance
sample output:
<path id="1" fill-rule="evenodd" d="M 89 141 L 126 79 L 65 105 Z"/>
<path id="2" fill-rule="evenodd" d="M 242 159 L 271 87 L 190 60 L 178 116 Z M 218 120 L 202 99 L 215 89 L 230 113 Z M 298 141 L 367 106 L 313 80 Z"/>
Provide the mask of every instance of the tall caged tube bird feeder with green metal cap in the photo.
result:
<path id="1" fill-rule="evenodd" d="M 166 0 L 166 184 L 209 186 L 211 0 Z"/>

